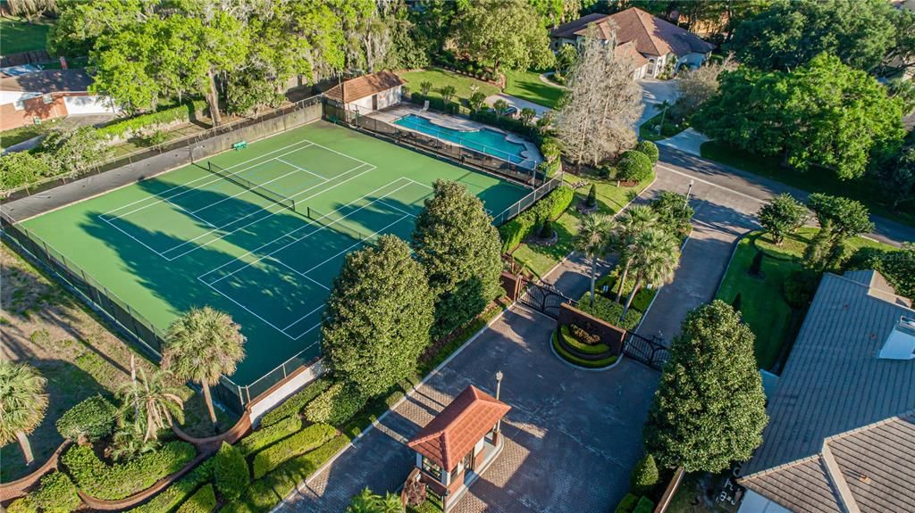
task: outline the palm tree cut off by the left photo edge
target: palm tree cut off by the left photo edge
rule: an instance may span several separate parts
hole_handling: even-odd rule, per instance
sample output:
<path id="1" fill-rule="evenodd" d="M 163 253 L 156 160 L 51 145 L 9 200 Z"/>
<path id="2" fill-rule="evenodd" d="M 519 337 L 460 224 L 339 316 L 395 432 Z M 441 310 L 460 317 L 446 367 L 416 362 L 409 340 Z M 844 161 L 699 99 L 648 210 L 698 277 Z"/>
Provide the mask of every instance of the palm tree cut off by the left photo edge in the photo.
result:
<path id="1" fill-rule="evenodd" d="M 0 361 L 0 445 L 18 440 L 26 465 L 35 461 L 27 435 L 41 424 L 48 409 L 46 382 L 25 363 Z"/>

